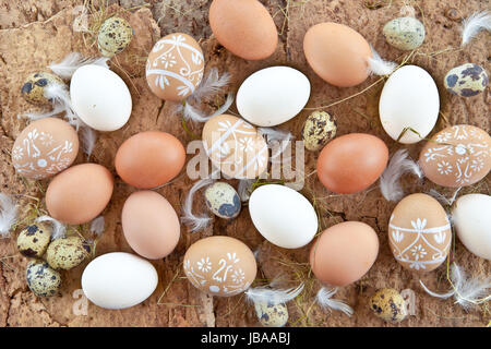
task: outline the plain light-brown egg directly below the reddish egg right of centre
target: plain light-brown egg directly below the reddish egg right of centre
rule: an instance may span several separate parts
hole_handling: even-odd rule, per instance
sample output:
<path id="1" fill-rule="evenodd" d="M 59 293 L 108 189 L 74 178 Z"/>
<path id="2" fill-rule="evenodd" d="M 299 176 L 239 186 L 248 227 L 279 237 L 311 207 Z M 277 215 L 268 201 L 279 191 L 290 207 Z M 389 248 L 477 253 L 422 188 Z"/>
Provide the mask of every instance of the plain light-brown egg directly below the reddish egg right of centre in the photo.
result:
<path id="1" fill-rule="evenodd" d="M 360 279 L 379 254 L 376 232 L 361 221 L 344 221 L 325 229 L 310 250 L 315 277 L 331 286 Z"/>

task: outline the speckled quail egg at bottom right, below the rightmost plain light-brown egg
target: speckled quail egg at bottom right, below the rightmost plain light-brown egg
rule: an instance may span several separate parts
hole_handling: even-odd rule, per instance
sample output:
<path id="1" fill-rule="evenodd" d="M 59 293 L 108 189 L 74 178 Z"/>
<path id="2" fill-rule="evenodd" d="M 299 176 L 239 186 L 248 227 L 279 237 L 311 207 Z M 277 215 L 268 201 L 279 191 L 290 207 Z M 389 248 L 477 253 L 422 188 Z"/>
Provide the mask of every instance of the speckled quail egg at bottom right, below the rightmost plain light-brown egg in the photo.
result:
<path id="1" fill-rule="evenodd" d="M 407 316 L 407 305 L 400 293 L 393 288 L 380 289 L 370 299 L 370 308 L 386 322 L 398 323 Z"/>

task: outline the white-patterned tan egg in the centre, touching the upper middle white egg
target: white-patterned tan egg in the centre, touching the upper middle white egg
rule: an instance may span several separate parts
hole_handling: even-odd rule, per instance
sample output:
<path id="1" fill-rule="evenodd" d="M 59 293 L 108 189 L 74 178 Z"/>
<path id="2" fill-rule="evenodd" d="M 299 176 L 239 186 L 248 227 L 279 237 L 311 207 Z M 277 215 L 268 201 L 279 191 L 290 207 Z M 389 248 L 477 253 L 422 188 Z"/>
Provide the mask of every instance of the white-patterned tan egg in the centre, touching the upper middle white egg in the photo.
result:
<path id="1" fill-rule="evenodd" d="M 267 168 L 267 144 L 243 119 L 213 117 L 203 128 L 203 145 L 212 163 L 229 177 L 253 179 Z"/>

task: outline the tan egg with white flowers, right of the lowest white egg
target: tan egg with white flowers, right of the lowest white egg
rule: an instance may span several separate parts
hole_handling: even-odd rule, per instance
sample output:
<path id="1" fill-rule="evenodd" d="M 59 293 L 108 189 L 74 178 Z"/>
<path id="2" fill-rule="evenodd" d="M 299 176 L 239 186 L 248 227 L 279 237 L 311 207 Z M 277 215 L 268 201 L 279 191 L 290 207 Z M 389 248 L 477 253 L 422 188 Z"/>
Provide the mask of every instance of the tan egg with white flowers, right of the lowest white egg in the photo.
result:
<path id="1" fill-rule="evenodd" d="M 184 273 L 197 289 L 211 296 L 236 296 L 255 279 L 252 251 L 240 240 L 209 237 L 194 242 L 184 254 Z"/>

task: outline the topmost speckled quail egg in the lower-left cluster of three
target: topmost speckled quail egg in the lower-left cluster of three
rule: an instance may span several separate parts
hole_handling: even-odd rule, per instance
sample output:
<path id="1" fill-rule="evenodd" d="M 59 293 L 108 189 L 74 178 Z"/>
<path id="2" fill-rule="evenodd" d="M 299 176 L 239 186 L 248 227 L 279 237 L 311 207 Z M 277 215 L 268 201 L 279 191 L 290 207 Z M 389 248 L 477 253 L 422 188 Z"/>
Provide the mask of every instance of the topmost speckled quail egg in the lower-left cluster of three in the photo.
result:
<path id="1" fill-rule="evenodd" d="M 41 257 L 51 241 L 52 228 L 40 222 L 28 226 L 17 237 L 17 249 L 26 257 Z"/>

